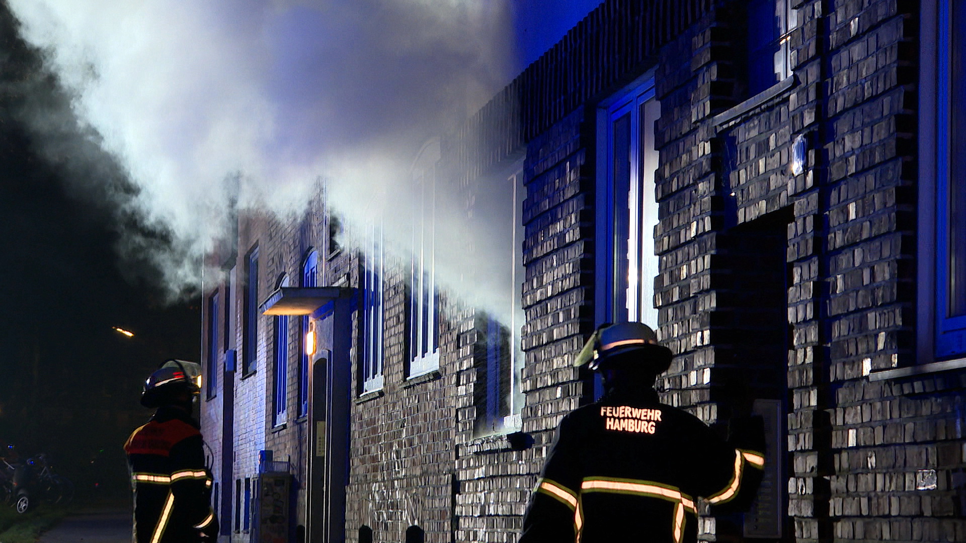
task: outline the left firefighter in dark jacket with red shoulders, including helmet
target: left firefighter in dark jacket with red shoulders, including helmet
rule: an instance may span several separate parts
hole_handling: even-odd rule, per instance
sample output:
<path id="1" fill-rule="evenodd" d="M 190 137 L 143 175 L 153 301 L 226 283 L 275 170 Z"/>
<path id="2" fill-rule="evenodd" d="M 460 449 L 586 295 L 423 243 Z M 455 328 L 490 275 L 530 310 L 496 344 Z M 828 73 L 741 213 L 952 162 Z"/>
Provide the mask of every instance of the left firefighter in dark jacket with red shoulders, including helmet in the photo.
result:
<path id="1" fill-rule="evenodd" d="M 128 438 L 125 451 L 134 487 L 136 543 L 214 541 L 218 521 L 211 506 L 212 474 L 192 416 L 201 390 L 201 368 L 167 360 L 144 386 L 141 404 L 156 409 Z"/>

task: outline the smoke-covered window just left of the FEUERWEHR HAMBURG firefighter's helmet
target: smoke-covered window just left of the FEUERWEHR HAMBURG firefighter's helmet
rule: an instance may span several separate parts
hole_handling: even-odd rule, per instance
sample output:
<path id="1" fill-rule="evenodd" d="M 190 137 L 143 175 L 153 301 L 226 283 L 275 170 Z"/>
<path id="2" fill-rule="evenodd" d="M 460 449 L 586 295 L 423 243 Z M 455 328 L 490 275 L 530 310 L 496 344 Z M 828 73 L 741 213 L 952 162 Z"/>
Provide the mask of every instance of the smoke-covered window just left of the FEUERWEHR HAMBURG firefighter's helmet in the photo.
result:
<path id="1" fill-rule="evenodd" d="M 526 322 L 522 300 L 525 275 L 522 212 L 526 188 L 522 164 L 514 164 L 511 171 L 510 175 L 486 181 L 486 193 L 477 195 L 474 205 L 474 213 L 488 220 L 488 239 L 477 240 L 476 244 L 490 261 L 489 267 L 478 270 L 479 275 L 473 277 L 489 299 L 484 300 L 486 312 L 481 311 L 476 323 L 486 346 L 478 355 L 477 383 L 473 388 L 476 436 L 515 432 L 522 426 L 521 329 Z"/>

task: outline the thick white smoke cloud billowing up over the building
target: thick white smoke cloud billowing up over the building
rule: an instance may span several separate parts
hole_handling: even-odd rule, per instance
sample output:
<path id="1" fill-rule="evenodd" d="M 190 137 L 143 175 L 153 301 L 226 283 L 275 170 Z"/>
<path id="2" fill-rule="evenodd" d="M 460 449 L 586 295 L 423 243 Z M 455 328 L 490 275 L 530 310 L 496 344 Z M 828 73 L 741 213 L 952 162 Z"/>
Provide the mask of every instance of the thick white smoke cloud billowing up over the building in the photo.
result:
<path id="1" fill-rule="evenodd" d="M 298 213 L 325 176 L 350 223 L 398 209 L 422 142 L 508 81 L 513 43 L 506 0 L 9 4 L 140 189 L 119 201 L 170 233 L 153 256 L 175 293 L 197 286 L 235 180 L 242 208 Z"/>

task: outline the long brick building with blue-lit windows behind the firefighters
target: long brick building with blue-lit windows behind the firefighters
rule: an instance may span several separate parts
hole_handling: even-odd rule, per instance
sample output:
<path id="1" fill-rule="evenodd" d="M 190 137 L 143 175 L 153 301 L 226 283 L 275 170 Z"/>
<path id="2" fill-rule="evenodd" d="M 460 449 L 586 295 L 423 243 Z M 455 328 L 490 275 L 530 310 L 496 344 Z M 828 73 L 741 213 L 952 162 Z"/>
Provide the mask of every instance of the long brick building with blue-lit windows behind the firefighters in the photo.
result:
<path id="1" fill-rule="evenodd" d="M 414 190 L 448 183 L 481 225 L 473 196 L 505 196 L 508 318 L 437 285 L 431 239 L 335 245 L 324 190 L 298 221 L 242 213 L 205 319 L 224 540 L 281 471 L 295 541 L 514 541 L 555 424 L 599 389 L 572 358 L 625 319 L 676 355 L 664 401 L 724 426 L 750 391 L 768 421 L 755 509 L 701 538 L 966 540 L 957 10 L 602 4 L 415 160 Z M 341 290 L 283 325 L 255 308 L 285 284 Z"/>

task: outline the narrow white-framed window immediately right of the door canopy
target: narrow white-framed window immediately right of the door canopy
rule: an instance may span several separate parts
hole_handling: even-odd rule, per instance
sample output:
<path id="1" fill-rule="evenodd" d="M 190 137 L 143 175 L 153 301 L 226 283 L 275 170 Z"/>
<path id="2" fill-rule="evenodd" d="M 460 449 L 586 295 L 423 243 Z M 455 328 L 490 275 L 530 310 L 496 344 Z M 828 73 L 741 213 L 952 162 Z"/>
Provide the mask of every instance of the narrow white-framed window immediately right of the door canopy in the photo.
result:
<path id="1" fill-rule="evenodd" d="M 383 387 L 383 227 L 366 232 L 362 286 L 362 393 Z"/>

